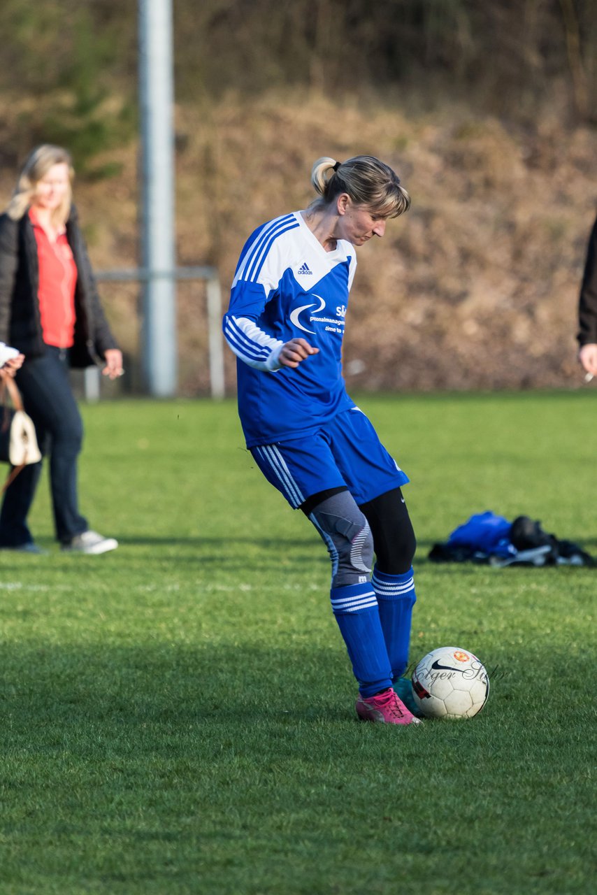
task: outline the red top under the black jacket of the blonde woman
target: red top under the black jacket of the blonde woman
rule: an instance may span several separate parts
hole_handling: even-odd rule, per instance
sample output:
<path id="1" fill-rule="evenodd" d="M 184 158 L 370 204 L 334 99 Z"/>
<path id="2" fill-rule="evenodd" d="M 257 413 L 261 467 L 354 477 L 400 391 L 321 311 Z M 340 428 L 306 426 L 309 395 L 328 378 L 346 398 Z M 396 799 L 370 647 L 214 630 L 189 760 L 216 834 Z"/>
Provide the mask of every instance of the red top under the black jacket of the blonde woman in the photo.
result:
<path id="1" fill-rule="evenodd" d="M 38 222 L 35 209 L 29 210 L 38 243 L 39 314 L 46 345 L 70 348 L 74 343 L 74 288 L 77 266 L 72 257 L 66 231 L 53 243 Z"/>

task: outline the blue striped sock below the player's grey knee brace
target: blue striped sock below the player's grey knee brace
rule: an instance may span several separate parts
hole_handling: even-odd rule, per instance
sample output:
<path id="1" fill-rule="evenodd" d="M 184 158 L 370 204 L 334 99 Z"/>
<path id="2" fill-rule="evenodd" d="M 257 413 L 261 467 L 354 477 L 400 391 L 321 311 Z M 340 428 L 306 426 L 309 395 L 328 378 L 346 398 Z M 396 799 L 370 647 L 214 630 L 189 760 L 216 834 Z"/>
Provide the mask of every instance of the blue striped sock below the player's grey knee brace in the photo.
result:
<path id="1" fill-rule="evenodd" d="M 372 696 L 392 686 L 388 650 L 371 582 L 333 587 L 330 599 L 361 695 Z"/>

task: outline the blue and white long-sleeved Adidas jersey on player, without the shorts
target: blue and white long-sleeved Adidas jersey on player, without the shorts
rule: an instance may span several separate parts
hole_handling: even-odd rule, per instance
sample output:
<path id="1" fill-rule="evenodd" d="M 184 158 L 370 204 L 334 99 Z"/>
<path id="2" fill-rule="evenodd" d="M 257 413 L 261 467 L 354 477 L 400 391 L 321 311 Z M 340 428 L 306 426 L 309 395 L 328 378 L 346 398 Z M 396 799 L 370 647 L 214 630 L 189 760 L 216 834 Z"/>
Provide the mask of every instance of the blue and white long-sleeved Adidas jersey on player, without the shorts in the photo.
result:
<path id="1" fill-rule="evenodd" d="M 300 212 L 264 224 L 245 244 L 224 319 L 237 363 L 247 447 L 306 435 L 354 406 L 342 378 L 342 337 L 354 246 L 326 251 Z M 296 369 L 277 358 L 293 338 L 320 349 Z"/>

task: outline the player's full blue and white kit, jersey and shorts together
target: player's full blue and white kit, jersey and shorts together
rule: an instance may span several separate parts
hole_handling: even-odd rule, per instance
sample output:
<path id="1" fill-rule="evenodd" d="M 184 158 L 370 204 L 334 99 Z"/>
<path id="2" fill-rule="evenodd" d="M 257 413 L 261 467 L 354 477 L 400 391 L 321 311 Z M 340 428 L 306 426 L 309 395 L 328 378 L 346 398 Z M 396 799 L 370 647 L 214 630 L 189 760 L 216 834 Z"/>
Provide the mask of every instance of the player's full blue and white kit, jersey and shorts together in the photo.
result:
<path id="1" fill-rule="evenodd" d="M 293 507 L 345 486 L 364 503 L 408 482 L 355 408 L 342 377 L 342 339 L 356 257 L 339 240 L 326 251 L 301 212 L 255 230 L 243 247 L 224 318 L 235 352 L 247 447 Z M 282 367 L 283 345 L 319 348 Z"/>

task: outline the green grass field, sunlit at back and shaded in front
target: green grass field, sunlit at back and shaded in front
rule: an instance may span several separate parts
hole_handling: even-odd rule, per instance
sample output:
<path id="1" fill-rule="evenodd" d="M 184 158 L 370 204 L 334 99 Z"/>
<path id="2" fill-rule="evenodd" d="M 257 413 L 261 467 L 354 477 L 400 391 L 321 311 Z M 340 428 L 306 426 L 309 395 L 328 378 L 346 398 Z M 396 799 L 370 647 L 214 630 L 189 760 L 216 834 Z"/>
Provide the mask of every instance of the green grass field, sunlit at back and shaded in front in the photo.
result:
<path id="1" fill-rule="evenodd" d="M 405 729 L 357 722 L 328 556 L 235 404 L 83 406 L 81 508 L 121 548 L 61 555 L 44 481 L 49 555 L 0 554 L 1 895 L 593 892 L 597 569 L 427 553 L 491 509 L 597 554 L 595 398 L 362 396 L 412 480 L 412 661 L 491 676 Z"/>

